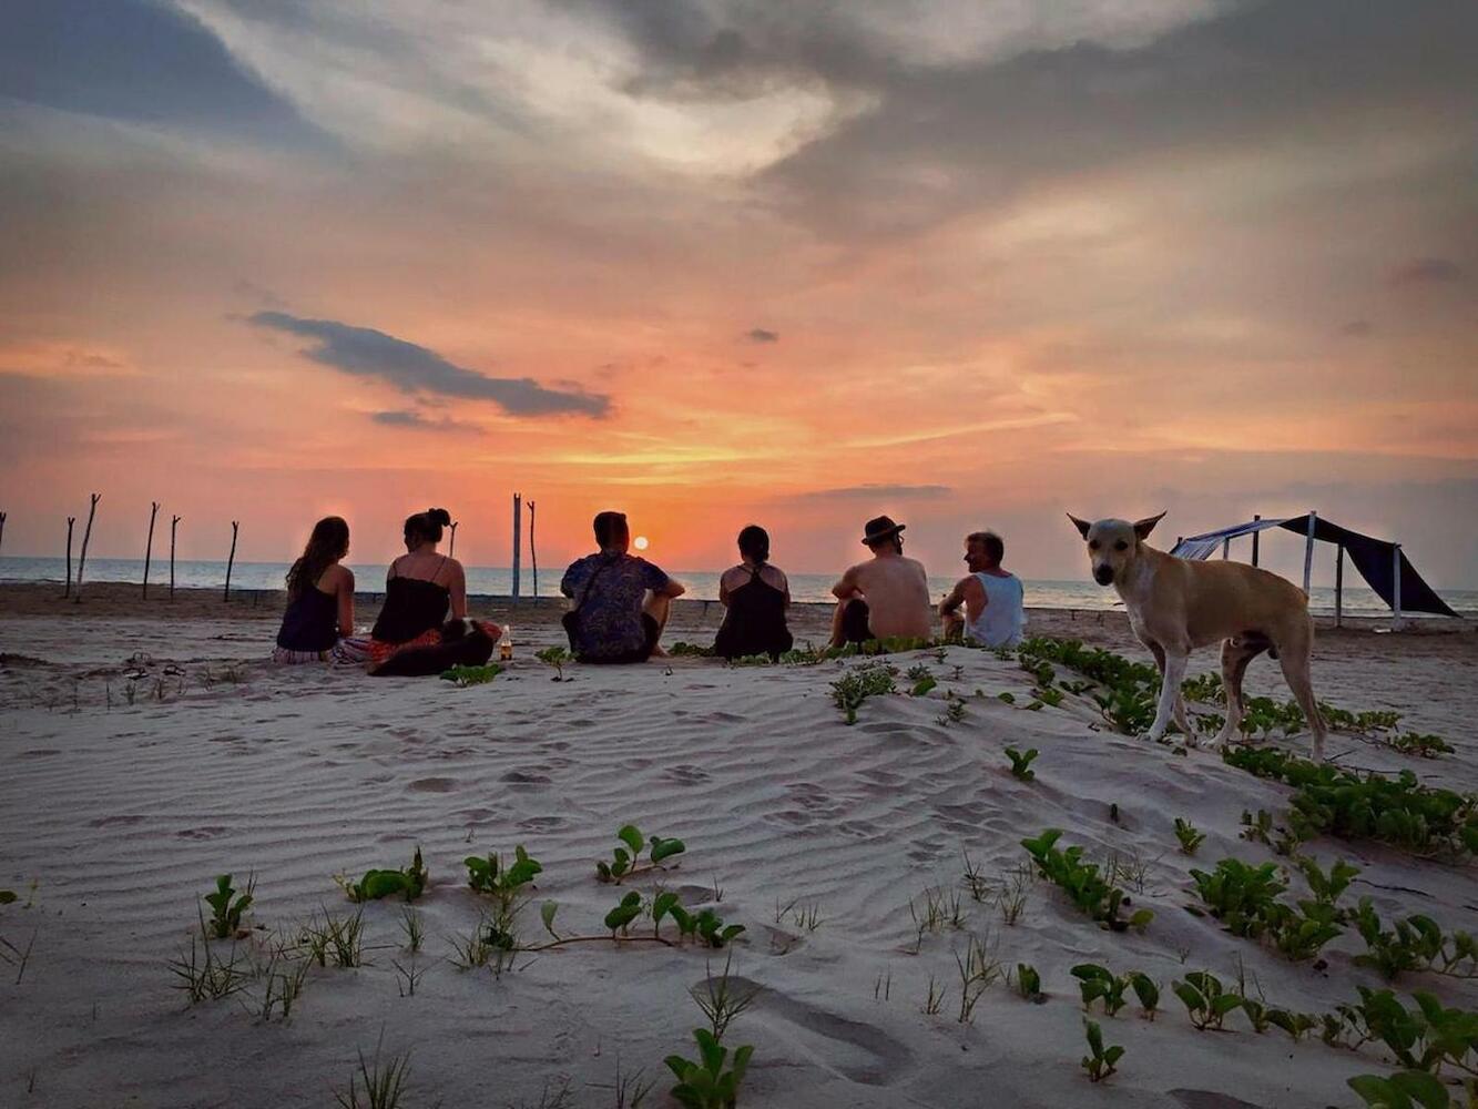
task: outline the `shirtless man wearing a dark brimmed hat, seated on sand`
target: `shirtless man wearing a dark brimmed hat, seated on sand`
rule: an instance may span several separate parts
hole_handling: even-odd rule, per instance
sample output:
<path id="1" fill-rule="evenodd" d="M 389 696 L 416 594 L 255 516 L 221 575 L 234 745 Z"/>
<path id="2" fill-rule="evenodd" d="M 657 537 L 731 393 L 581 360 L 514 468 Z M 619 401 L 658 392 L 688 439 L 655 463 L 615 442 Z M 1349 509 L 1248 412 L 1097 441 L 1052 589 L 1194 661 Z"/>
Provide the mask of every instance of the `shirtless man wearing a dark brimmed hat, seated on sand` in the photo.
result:
<path id="1" fill-rule="evenodd" d="M 933 606 L 928 574 L 918 559 L 903 557 L 903 523 L 887 516 L 868 520 L 862 543 L 872 557 L 859 562 L 832 586 L 837 614 L 832 646 L 869 639 L 928 639 Z"/>

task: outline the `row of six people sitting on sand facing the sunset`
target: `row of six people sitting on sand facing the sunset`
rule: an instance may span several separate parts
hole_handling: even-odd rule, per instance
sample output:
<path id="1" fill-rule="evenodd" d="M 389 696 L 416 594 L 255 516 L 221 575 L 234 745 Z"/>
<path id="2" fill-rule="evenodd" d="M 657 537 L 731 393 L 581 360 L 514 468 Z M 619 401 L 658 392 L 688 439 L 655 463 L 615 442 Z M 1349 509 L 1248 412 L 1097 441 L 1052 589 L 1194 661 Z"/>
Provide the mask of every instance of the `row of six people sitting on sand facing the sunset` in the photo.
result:
<path id="1" fill-rule="evenodd" d="M 503 628 L 469 621 L 467 580 L 457 559 L 437 552 L 445 509 L 405 520 L 405 554 L 390 563 L 384 605 L 368 637 L 355 636 L 355 577 L 341 565 L 349 525 L 328 516 L 315 525 L 303 556 L 287 575 L 288 605 L 278 633 L 278 662 L 336 661 L 365 664 L 371 673 L 417 673 L 412 662 L 439 658 L 452 639 L 466 643 L 458 661 L 488 661 Z M 872 557 L 847 569 L 832 587 L 832 646 L 872 639 L 930 639 L 934 618 L 944 639 L 971 639 L 992 648 L 1014 646 L 1026 625 L 1021 581 L 1001 566 L 1005 544 L 990 531 L 965 537 L 970 575 L 933 603 L 928 574 L 903 554 L 903 529 L 887 516 L 868 520 L 862 543 Z M 563 627 L 581 662 L 644 662 L 662 657 L 662 631 L 671 603 L 686 587 L 631 553 L 631 529 L 619 512 L 594 520 L 599 550 L 565 571 L 560 593 L 569 599 Z M 724 571 L 718 600 L 724 618 L 714 640 L 723 658 L 779 658 L 794 646 L 786 623 L 791 587 L 770 562 L 769 532 L 751 523 L 739 532 L 739 563 Z M 469 655 L 469 652 L 471 652 Z"/>

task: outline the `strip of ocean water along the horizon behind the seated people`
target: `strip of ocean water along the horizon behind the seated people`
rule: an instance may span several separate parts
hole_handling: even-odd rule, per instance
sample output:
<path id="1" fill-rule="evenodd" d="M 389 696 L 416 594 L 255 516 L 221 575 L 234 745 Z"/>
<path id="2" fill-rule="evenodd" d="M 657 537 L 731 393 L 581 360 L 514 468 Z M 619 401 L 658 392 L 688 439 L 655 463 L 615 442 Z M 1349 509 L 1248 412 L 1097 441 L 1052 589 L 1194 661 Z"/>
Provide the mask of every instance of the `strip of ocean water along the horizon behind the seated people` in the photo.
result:
<path id="1" fill-rule="evenodd" d="M 362 591 L 375 591 L 384 581 L 386 566 L 383 565 L 353 565 L 355 578 Z M 282 589 L 282 578 L 287 575 L 285 562 L 238 562 L 231 571 L 231 587 L 241 590 L 276 590 Z M 467 566 L 467 591 L 485 596 L 507 596 L 513 591 L 513 571 L 507 566 Z M 563 568 L 542 569 L 539 572 L 538 594 L 544 597 L 559 596 L 559 580 Z M 721 571 L 671 571 L 675 578 L 687 586 L 687 596 L 696 600 L 718 599 L 718 577 Z M 161 565 L 154 562 L 149 568 L 149 583 L 155 586 L 168 584 L 168 560 Z M 65 581 L 65 559 L 30 559 L 30 557 L 0 557 L 0 581 Z M 831 587 L 837 578 L 832 574 L 791 574 L 791 596 L 795 600 L 829 602 Z M 143 581 L 142 559 L 89 559 L 89 581 Z M 174 583 L 180 587 L 220 589 L 226 581 L 225 562 L 176 562 Z M 934 596 L 947 593 L 955 584 L 955 578 L 930 578 L 930 590 Z M 1111 609 L 1117 596 L 1111 589 L 1100 589 L 1091 581 L 1043 581 L 1024 578 L 1026 603 L 1030 608 L 1079 608 L 1079 609 Z M 534 596 L 534 577 L 525 568 L 519 577 L 519 587 L 523 596 Z M 1444 590 L 1443 597 L 1459 612 L 1478 614 L 1478 590 Z M 1335 611 L 1335 590 L 1315 586 L 1311 596 L 1311 606 L 1315 612 Z M 1380 617 L 1389 614 L 1373 591 L 1364 587 L 1345 587 L 1346 615 Z"/>

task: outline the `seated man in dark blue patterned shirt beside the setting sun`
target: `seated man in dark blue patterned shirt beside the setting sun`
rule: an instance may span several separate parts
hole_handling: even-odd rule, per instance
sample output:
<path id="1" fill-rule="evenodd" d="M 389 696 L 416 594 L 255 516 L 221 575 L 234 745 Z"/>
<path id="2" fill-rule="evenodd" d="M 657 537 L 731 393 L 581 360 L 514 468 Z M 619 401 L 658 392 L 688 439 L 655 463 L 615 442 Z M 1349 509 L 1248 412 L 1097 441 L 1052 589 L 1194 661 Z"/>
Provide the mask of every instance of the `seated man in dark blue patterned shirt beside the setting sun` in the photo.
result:
<path id="1" fill-rule="evenodd" d="M 581 662 L 646 662 L 664 655 L 658 646 L 672 597 L 686 593 L 661 568 L 627 553 L 631 529 L 625 513 L 596 516 L 600 552 L 576 559 L 559 591 L 571 597 L 565 614 L 569 648 Z"/>

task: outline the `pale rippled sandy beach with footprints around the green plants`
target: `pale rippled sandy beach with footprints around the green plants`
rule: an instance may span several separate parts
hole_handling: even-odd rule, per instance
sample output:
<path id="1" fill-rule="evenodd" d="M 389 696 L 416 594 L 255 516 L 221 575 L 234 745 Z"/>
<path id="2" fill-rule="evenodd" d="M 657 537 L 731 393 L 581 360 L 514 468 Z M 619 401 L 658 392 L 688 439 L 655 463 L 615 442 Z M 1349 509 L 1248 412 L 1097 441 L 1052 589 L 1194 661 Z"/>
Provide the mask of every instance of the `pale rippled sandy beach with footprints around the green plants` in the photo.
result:
<path id="1" fill-rule="evenodd" d="M 553 682 L 532 652 L 559 642 L 557 609 L 480 599 L 474 615 L 514 625 L 516 657 L 461 689 L 272 667 L 279 600 L 254 600 L 142 602 L 132 587 L 89 586 L 74 605 L 50 587 L 0 589 L 0 887 L 18 893 L 0 906 L 0 936 L 28 952 L 19 974 L 0 966 L 0 1103 L 324 1106 L 347 1090 L 356 1054 L 381 1044 L 381 1057 L 409 1059 L 411 1106 L 615 1106 L 618 1075 L 638 1071 L 655 1081 L 644 1105 L 667 1106 L 662 1059 L 695 1054 L 705 1019 L 689 991 L 726 954 L 733 977 L 758 986 L 726 1037 L 754 1045 L 742 1105 L 1305 1109 L 1357 1105 L 1346 1078 L 1388 1072 L 1379 1044 L 1295 1044 L 1255 1034 L 1242 1013 L 1225 1031 L 1196 1031 L 1171 994 L 1188 971 L 1228 983 L 1240 973 L 1270 1004 L 1324 1013 L 1358 985 L 1383 985 L 1352 963 L 1364 951 L 1352 927 L 1320 963 L 1289 963 L 1185 911 L 1194 866 L 1287 862 L 1239 832 L 1244 810 L 1281 813 L 1289 788 L 1206 750 L 1117 735 L 1085 696 L 1026 711 L 1033 680 L 1014 659 L 965 648 L 893 657 L 937 686 L 871 698 L 848 726 L 831 683 L 857 661 L 675 658 L 572 665 Z M 361 605 L 359 620 L 371 615 Z M 797 612 L 797 639 L 819 642 L 828 615 Z M 717 621 L 717 605 L 678 602 L 665 642 L 708 643 Z M 1033 612 L 1029 630 L 1144 659 L 1117 612 Z M 1403 729 L 1456 748 L 1416 759 L 1336 732 L 1332 759 L 1478 788 L 1475 667 L 1478 640 L 1456 625 L 1321 630 L 1323 699 L 1398 711 Z M 1193 658 L 1193 673 L 1212 668 L 1212 652 Z M 1267 659 L 1249 689 L 1287 696 Z M 946 695 L 961 698 L 958 719 Z M 1305 754 L 1307 741 L 1271 744 Z M 1007 747 L 1041 751 L 1035 779 L 1008 772 Z M 1194 856 L 1176 847 L 1178 816 L 1206 832 Z M 559 902 L 562 935 L 602 935 L 625 887 L 597 881 L 594 864 L 627 822 L 686 843 L 631 889 L 659 883 L 743 924 L 727 952 L 603 940 L 520 954 L 500 976 L 454 966 L 454 943 L 488 912 L 464 856 L 522 844 L 542 864 L 522 940 L 547 939 L 544 901 Z M 1023 886 L 1009 924 L 993 892 L 971 896 L 965 856 L 1009 887 L 1027 859 L 1020 840 L 1048 827 L 1128 866 L 1132 905 L 1154 911 L 1142 935 L 1098 927 L 1043 880 Z M 217 874 L 238 886 L 254 874 L 251 932 L 234 946 L 265 963 L 273 937 L 355 911 L 334 875 L 405 866 L 417 846 L 432 880 L 415 902 L 420 952 L 405 949 L 403 903 L 371 902 L 364 966 L 310 967 L 287 1020 L 262 1019 L 263 979 L 195 1005 L 174 988 L 168 963 L 188 955 Z M 1471 856 L 1329 837 L 1302 850 L 1326 868 L 1360 866 L 1346 902 L 1369 896 L 1388 921 L 1422 912 L 1451 930 L 1478 918 Z M 1304 890 L 1295 872 L 1289 896 Z M 921 933 L 930 898 L 959 908 Z M 1045 1001 L 998 980 L 961 1020 L 956 957 L 973 940 L 1002 970 L 1032 964 Z M 1106 1040 L 1126 1048 L 1103 1084 L 1079 1068 L 1085 1014 L 1069 971 L 1082 963 L 1142 970 L 1163 995 L 1153 1022 L 1135 1004 L 1113 1017 L 1094 1005 Z M 931 982 L 937 1013 L 925 1011 Z M 1478 1004 L 1472 980 L 1431 971 L 1397 989 Z"/>

